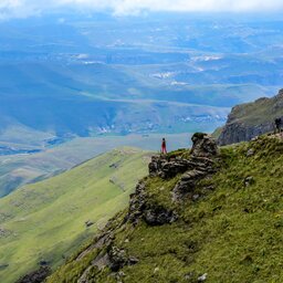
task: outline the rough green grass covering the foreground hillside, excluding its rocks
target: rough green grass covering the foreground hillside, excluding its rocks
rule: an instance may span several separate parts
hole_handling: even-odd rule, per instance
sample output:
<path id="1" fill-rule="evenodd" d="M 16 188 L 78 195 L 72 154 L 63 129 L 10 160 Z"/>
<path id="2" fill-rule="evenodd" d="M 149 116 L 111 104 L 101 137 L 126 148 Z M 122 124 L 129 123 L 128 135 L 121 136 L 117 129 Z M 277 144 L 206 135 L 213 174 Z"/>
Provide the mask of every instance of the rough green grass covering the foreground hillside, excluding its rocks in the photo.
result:
<path id="1" fill-rule="evenodd" d="M 250 148 L 255 154 L 247 157 Z M 114 244 L 139 259 L 136 265 L 123 268 L 123 282 L 197 282 L 203 273 L 211 283 L 282 282 L 283 142 L 262 137 L 221 151 L 221 170 L 205 181 L 214 191 L 177 207 L 177 222 L 161 227 L 140 222 L 116 230 Z M 245 186 L 249 176 L 253 182 Z M 178 178 L 147 178 L 150 200 L 172 207 L 170 191 Z M 48 283 L 76 282 L 95 253 L 80 262 L 70 260 Z M 116 282 L 109 274 L 104 269 L 95 282 Z"/>

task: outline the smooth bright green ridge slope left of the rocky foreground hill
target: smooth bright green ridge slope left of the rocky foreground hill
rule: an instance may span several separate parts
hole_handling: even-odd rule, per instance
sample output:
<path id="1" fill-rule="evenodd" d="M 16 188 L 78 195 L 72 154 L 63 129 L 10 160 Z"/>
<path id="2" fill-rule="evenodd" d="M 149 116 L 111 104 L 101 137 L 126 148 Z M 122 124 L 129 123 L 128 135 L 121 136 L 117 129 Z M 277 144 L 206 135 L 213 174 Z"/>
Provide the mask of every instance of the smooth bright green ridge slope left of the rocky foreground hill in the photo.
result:
<path id="1" fill-rule="evenodd" d="M 54 266 L 123 209 L 147 154 L 114 150 L 54 178 L 29 185 L 0 200 L 0 282 L 13 282 L 44 259 Z M 118 167 L 111 168 L 109 165 Z M 114 184 L 109 179 L 114 179 Z M 85 221 L 95 224 L 85 228 Z"/>

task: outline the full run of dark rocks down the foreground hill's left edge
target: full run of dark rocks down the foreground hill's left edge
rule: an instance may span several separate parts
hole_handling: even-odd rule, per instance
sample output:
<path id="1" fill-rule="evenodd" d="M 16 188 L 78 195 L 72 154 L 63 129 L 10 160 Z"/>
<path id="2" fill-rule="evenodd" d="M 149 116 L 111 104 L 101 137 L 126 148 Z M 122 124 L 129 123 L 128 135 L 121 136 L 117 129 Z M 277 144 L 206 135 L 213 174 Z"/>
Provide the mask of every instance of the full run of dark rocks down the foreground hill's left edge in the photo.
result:
<path id="1" fill-rule="evenodd" d="M 180 201 L 188 197 L 197 200 L 200 197 L 199 192 L 195 191 L 195 188 L 199 180 L 217 171 L 219 150 L 216 140 L 207 134 L 195 134 L 192 144 L 191 150 L 185 150 L 185 155 L 174 156 L 174 154 L 170 154 L 151 158 L 151 163 L 148 166 L 149 177 L 139 181 L 135 192 L 130 195 L 126 217 L 122 214 L 120 218 L 116 218 L 119 220 L 114 218 L 109 221 L 94 243 L 75 259 L 75 261 L 80 262 L 87 254 L 96 251 L 91 264 L 80 275 L 78 283 L 93 282 L 93 272 L 95 271 L 98 274 L 106 266 L 111 270 L 113 279 L 117 282 L 123 282 L 123 277 L 126 275 L 122 271 L 123 268 L 137 264 L 139 259 L 129 254 L 125 245 L 115 241 L 115 231 L 122 231 L 128 224 L 135 227 L 139 221 L 144 221 L 151 227 L 172 223 L 178 220 L 178 213 L 174 210 L 176 209 L 175 201 Z M 170 199 L 170 195 L 168 198 L 172 206 L 169 205 L 167 207 L 158 201 L 151 201 L 150 192 L 147 188 L 148 184 L 154 178 L 167 180 L 177 175 L 181 175 L 180 181 L 175 188 L 171 188 L 172 199 Z M 126 241 L 129 242 L 130 240 L 126 239 L 125 243 Z"/>

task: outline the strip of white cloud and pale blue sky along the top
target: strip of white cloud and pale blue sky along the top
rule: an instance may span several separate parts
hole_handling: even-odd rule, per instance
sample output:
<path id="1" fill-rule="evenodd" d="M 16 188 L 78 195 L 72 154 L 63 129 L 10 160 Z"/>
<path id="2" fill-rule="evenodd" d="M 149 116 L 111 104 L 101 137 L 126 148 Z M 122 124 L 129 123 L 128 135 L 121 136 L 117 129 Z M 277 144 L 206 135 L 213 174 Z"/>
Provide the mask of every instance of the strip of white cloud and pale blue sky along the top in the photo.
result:
<path id="1" fill-rule="evenodd" d="M 283 10 L 283 0 L 0 0 L 0 18 L 22 18 L 60 8 L 111 10 L 115 14 L 139 11 L 232 11 Z"/>

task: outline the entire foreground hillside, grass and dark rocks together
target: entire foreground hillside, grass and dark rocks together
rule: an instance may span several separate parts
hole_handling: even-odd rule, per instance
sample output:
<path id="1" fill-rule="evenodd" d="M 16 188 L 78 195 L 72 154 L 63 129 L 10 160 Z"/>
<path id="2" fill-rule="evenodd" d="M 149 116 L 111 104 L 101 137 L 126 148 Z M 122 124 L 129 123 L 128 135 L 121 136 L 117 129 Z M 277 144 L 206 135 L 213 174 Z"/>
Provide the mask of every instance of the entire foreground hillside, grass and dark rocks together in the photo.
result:
<path id="1" fill-rule="evenodd" d="M 48 283 L 272 283 L 283 277 L 283 140 L 153 157 L 129 207 Z"/>

